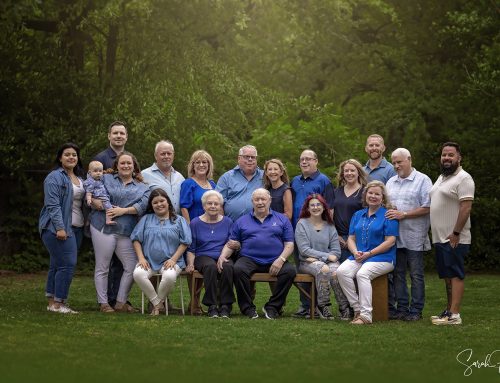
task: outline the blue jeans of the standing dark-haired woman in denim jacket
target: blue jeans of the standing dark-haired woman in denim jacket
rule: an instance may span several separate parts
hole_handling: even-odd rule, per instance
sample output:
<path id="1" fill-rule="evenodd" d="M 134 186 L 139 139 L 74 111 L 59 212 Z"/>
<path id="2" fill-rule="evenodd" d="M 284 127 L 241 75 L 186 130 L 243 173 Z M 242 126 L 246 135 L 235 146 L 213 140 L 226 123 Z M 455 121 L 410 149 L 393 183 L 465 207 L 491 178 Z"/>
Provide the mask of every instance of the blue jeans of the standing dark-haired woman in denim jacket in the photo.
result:
<path id="1" fill-rule="evenodd" d="M 44 230 L 42 241 L 50 254 L 45 296 L 54 297 L 56 302 L 65 302 L 76 266 L 78 252 L 76 236 L 61 241 L 50 230 Z"/>

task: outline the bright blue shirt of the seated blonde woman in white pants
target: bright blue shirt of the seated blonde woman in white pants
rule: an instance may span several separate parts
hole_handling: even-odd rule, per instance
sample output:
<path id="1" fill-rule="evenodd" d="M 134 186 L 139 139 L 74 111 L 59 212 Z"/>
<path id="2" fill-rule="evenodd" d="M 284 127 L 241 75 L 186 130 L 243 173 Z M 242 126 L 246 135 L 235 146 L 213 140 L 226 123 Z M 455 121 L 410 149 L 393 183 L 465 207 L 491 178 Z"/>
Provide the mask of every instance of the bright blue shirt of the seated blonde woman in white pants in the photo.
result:
<path id="1" fill-rule="evenodd" d="M 399 222 L 397 219 L 385 218 L 385 207 L 380 207 L 371 217 L 368 217 L 368 208 L 354 213 L 349 227 L 349 235 L 356 236 L 358 251 L 370 251 L 384 242 L 386 236 L 398 236 Z M 351 255 L 349 259 L 354 260 Z M 385 253 L 374 255 L 365 262 L 390 262 L 396 261 L 396 244 Z"/>

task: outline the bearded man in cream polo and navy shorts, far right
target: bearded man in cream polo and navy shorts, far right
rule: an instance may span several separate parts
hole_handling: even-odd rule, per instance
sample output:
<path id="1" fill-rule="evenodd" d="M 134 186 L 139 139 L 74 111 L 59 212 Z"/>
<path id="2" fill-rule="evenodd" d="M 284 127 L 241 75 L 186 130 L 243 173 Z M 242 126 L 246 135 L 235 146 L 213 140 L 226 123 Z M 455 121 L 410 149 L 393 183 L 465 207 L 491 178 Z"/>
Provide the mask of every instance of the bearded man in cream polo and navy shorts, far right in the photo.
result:
<path id="1" fill-rule="evenodd" d="M 464 294 L 464 257 L 469 253 L 470 212 L 474 180 L 460 166 L 462 155 L 456 142 L 441 146 L 441 175 L 431 189 L 432 242 L 436 268 L 446 284 L 448 305 L 431 317 L 435 325 L 462 324 L 460 304 Z"/>

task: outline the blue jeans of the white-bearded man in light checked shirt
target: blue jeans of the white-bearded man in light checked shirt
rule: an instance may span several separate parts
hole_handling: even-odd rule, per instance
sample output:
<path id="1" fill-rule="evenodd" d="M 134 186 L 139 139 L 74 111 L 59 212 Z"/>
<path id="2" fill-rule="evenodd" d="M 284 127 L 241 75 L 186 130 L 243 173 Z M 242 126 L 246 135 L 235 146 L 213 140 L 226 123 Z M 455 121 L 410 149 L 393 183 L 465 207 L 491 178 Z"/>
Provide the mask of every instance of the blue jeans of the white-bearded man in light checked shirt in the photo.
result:
<path id="1" fill-rule="evenodd" d="M 406 271 L 411 279 L 411 302 L 406 286 Z M 394 268 L 394 289 L 397 311 L 411 315 L 421 315 L 425 302 L 424 252 L 398 248 Z"/>

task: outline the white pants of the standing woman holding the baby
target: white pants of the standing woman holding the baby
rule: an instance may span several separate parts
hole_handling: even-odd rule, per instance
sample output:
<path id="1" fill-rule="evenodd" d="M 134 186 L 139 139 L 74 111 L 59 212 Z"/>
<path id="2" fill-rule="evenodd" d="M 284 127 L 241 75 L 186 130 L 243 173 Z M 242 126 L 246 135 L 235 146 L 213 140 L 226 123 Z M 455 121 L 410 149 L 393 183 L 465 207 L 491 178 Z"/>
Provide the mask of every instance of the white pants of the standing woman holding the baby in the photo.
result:
<path id="1" fill-rule="evenodd" d="M 124 235 L 104 234 L 92 225 L 90 225 L 90 233 L 95 252 L 94 281 L 97 301 L 99 303 L 108 303 L 109 263 L 113 253 L 116 253 L 123 265 L 123 274 L 116 300 L 118 302 L 127 302 L 128 294 L 134 282 L 132 273 L 137 263 L 137 255 L 132 246 L 132 241 Z"/>

